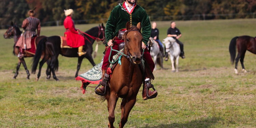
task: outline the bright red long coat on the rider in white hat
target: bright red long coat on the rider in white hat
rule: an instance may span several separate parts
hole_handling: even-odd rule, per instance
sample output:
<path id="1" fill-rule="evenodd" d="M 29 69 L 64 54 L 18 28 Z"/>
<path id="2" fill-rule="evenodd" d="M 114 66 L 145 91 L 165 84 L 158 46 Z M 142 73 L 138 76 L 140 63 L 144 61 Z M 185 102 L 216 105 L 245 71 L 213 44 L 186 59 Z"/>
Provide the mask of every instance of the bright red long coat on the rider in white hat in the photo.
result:
<path id="1" fill-rule="evenodd" d="M 75 29 L 74 22 L 70 16 L 64 20 L 64 27 L 66 28 L 65 37 L 67 37 L 67 44 L 70 47 L 79 47 L 84 45 L 84 37 Z"/>

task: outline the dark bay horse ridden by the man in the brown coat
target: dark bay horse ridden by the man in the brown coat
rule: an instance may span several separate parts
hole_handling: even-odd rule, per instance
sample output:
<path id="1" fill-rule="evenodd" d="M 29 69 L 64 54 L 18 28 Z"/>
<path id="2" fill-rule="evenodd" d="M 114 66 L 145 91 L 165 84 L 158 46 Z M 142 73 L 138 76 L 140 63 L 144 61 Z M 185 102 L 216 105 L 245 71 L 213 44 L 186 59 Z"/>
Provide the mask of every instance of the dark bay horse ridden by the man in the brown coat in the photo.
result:
<path id="1" fill-rule="evenodd" d="M 13 22 L 11 23 L 11 26 L 8 28 L 8 30 L 4 33 L 3 37 L 5 39 L 9 39 L 9 38 L 14 38 L 14 46 L 13 46 L 13 54 L 14 55 L 18 55 L 19 53 L 19 48 L 18 47 L 15 47 L 20 35 L 22 34 L 22 32 L 20 31 L 19 27 L 17 27 L 15 24 L 13 24 Z M 45 38 L 45 36 L 39 36 L 35 39 L 35 45 L 38 45 L 39 41 L 41 39 Z M 33 54 L 30 54 L 28 52 L 25 51 L 25 57 L 33 57 L 34 55 Z M 17 57 L 18 58 L 18 57 Z M 19 74 L 19 67 L 20 67 L 20 64 L 22 63 L 26 72 L 27 72 L 27 79 L 29 79 L 29 70 L 27 68 L 27 65 L 26 65 L 26 62 L 25 62 L 25 59 L 22 57 L 22 58 L 18 58 L 18 65 L 16 67 L 16 72 L 13 76 L 13 79 L 16 79 L 16 77 L 18 76 Z M 46 73 L 47 74 L 47 73 Z"/>

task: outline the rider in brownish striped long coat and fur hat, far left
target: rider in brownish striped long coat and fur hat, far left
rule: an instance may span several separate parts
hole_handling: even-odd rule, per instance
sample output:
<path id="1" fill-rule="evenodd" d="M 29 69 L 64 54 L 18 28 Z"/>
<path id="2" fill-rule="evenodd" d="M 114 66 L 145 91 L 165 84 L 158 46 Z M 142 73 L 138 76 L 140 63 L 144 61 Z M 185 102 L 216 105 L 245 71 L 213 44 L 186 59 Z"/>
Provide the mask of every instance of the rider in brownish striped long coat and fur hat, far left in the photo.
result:
<path id="1" fill-rule="evenodd" d="M 24 29 L 24 33 L 21 35 L 21 37 L 18 39 L 16 43 L 16 47 L 19 47 L 19 54 L 18 57 L 23 57 L 25 55 L 24 49 L 30 49 L 31 48 L 31 40 L 34 37 L 37 37 L 40 35 L 41 30 L 41 24 L 40 20 L 38 18 L 35 18 L 35 11 L 29 10 L 28 11 L 29 17 L 23 20 L 22 28 Z M 37 34 L 35 30 L 37 29 Z"/>

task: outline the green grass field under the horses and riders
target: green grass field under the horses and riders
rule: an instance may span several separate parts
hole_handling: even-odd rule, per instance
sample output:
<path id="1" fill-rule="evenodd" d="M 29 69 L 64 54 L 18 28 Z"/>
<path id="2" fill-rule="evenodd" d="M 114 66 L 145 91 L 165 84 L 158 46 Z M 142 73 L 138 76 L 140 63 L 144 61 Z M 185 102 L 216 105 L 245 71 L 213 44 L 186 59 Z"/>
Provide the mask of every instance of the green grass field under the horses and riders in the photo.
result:
<path id="1" fill-rule="evenodd" d="M 153 84 L 158 97 L 142 100 L 137 96 L 126 128 L 256 128 L 256 55 L 247 52 L 245 68 L 234 74 L 228 46 L 238 35 L 255 36 L 256 19 L 177 21 L 185 45 L 185 59 L 179 61 L 178 73 L 171 72 L 170 60 L 166 70 L 154 71 Z M 157 22 L 160 39 L 166 37 L 170 22 Z M 76 25 L 88 30 L 98 24 Z M 13 80 L 17 57 L 12 55 L 13 39 L 4 39 L 0 30 L 0 127 L 1 128 L 106 128 L 108 110 L 94 88 L 83 95 L 80 81 L 74 80 L 77 58 L 59 56 L 60 81 L 46 80 L 45 67 L 38 82 L 32 74 L 20 68 Z M 63 26 L 42 27 L 42 35 L 63 35 Z M 104 46 L 100 45 L 100 62 Z M 26 58 L 29 69 L 31 59 Z M 80 74 L 92 68 L 84 59 Z M 158 66 L 159 68 L 159 66 Z M 120 121 L 120 99 L 114 123 Z"/>

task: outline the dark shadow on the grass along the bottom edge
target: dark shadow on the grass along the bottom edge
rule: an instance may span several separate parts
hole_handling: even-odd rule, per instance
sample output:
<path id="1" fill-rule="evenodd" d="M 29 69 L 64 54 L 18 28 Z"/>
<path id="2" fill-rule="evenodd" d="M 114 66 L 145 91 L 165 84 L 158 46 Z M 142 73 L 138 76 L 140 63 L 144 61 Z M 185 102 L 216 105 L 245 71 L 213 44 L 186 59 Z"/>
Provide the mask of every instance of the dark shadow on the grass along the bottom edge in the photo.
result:
<path id="1" fill-rule="evenodd" d="M 201 118 L 186 123 L 159 124 L 157 126 L 146 125 L 142 128 L 208 128 L 216 124 L 219 120 L 220 118 L 218 117 Z"/>

